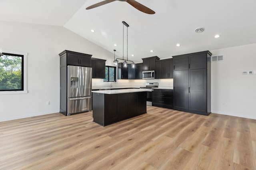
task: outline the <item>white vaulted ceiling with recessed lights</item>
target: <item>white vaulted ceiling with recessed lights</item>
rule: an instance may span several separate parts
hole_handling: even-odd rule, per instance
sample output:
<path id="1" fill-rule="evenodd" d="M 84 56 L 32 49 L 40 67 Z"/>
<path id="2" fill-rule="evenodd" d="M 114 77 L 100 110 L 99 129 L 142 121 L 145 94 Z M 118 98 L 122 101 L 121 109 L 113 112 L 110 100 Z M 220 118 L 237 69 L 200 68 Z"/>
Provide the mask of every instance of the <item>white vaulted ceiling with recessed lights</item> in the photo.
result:
<path id="1" fill-rule="evenodd" d="M 137 0 L 154 10 L 153 15 L 121 1 L 85 9 L 101 1 L 1 0 L 0 20 L 64 26 L 108 51 L 116 49 L 119 56 L 125 21 L 130 25 L 128 59 L 134 61 L 256 43 L 255 0 Z M 198 27 L 204 32 L 196 33 Z"/>

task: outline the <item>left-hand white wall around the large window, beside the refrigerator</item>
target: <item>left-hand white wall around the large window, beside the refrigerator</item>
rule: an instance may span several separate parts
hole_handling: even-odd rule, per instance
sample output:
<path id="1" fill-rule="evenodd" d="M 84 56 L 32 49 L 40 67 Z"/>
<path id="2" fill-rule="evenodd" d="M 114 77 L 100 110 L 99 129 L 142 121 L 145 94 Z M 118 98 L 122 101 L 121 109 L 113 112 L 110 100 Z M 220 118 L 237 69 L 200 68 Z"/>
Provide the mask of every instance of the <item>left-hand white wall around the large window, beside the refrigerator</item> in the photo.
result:
<path id="1" fill-rule="evenodd" d="M 59 53 L 71 50 L 111 59 L 113 54 L 66 28 L 0 22 L 0 46 L 28 52 L 28 93 L 0 95 L 0 121 L 59 112 Z M 46 105 L 50 101 L 50 105 Z"/>

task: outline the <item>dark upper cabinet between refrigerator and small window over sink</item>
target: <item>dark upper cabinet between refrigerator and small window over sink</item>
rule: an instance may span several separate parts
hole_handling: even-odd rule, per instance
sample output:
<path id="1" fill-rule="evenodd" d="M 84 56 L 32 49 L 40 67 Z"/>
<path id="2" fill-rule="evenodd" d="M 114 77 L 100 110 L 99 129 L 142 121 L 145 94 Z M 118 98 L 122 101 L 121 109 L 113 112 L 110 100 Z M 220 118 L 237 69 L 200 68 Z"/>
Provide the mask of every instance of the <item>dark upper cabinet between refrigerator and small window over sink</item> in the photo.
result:
<path id="1" fill-rule="evenodd" d="M 106 60 L 92 58 L 92 78 L 105 79 Z"/>

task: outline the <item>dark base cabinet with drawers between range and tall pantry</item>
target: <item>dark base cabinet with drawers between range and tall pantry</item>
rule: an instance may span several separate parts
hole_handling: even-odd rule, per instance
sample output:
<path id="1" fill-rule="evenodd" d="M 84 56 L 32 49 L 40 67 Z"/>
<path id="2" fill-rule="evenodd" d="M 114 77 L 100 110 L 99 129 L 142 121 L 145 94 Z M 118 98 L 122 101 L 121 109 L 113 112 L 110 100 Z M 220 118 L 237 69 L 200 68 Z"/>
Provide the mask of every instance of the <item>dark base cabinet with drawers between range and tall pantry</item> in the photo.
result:
<path id="1" fill-rule="evenodd" d="M 153 89 L 152 105 L 173 109 L 173 90 L 171 89 Z"/>

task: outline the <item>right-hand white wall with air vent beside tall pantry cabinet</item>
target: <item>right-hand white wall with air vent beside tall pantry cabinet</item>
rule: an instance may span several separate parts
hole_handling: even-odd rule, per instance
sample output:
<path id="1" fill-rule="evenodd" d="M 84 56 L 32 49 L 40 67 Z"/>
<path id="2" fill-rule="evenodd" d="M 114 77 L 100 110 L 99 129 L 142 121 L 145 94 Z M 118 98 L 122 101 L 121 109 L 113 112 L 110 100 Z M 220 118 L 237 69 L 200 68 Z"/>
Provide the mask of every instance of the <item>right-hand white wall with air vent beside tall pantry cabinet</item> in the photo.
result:
<path id="1" fill-rule="evenodd" d="M 224 61 L 212 62 L 212 113 L 256 119 L 256 43 L 211 50 L 212 56 L 224 55 Z"/>

